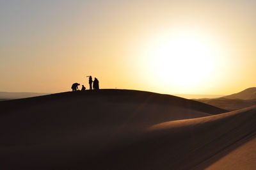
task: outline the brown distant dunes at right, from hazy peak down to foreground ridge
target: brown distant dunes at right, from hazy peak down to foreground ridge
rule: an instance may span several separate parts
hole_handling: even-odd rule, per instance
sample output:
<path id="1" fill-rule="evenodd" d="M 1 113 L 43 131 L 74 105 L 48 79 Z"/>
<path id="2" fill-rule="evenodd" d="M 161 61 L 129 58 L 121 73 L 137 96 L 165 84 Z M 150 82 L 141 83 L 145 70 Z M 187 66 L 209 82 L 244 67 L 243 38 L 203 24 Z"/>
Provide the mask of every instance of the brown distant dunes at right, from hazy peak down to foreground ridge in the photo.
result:
<path id="1" fill-rule="evenodd" d="M 256 88 L 244 89 L 239 93 L 220 98 L 199 98 L 194 100 L 227 109 L 228 111 L 234 111 L 256 105 Z"/>

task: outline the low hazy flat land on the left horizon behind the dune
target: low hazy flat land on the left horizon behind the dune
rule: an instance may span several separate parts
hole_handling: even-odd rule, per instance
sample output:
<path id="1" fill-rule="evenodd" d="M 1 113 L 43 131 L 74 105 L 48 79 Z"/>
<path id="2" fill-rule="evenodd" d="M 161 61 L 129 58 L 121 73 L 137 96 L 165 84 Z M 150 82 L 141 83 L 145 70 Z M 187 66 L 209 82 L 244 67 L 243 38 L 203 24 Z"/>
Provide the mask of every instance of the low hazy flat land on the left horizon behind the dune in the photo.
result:
<path id="1" fill-rule="evenodd" d="M 17 98 L 38 97 L 42 95 L 49 95 L 50 93 L 31 93 L 31 92 L 4 92 L 0 91 L 0 101 L 12 100 Z"/>

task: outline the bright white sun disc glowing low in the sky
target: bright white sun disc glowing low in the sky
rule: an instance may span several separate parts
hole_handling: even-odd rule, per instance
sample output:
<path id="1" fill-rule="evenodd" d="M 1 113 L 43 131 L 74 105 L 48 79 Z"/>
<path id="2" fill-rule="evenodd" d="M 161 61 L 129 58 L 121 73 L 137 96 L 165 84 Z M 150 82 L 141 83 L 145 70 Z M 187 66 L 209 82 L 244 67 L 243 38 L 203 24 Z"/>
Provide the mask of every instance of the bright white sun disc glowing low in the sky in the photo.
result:
<path id="1" fill-rule="evenodd" d="M 177 86 L 206 81 L 214 68 L 214 55 L 205 43 L 193 38 L 174 38 L 159 45 L 152 55 L 157 77 Z"/>

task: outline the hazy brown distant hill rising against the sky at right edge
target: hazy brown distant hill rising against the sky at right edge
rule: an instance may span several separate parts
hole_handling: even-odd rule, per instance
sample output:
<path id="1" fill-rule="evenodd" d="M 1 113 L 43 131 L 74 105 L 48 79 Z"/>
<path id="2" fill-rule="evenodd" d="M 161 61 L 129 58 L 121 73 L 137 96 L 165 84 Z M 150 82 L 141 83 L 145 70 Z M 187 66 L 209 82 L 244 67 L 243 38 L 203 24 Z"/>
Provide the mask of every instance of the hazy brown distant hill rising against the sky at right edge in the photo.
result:
<path id="1" fill-rule="evenodd" d="M 243 99 L 243 100 L 252 100 L 256 98 L 256 88 L 248 88 L 244 89 L 239 93 L 235 93 L 232 95 L 225 96 L 223 98 L 231 98 L 231 99 Z"/>

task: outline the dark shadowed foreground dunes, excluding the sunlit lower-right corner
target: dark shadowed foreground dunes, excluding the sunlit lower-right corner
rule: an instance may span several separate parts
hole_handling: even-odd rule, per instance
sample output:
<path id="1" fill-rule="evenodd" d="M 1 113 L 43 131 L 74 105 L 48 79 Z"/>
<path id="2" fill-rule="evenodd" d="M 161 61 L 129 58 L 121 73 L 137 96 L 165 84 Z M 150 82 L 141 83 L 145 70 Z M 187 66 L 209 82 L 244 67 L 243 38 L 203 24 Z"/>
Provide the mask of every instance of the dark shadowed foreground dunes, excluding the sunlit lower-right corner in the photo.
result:
<path id="1" fill-rule="evenodd" d="M 203 169 L 256 130 L 256 107 L 227 112 L 144 91 L 58 93 L 0 109 L 0 169 Z"/>

